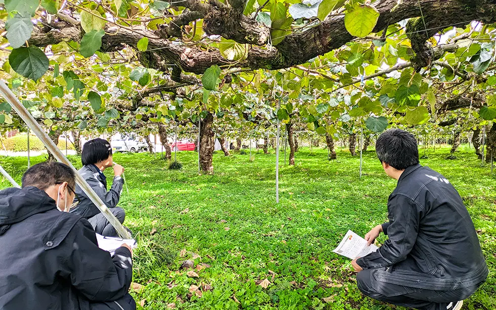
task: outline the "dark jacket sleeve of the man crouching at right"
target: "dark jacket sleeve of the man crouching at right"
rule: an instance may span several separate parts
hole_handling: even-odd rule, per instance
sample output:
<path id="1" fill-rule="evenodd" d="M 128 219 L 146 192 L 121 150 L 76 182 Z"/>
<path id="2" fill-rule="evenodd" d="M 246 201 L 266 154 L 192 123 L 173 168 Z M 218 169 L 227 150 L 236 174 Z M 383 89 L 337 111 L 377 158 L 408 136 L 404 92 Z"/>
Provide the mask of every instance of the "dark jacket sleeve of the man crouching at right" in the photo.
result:
<path id="1" fill-rule="evenodd" d="M 389 200 L 388 210 L 390 222 L 385 231 L 389 239 L 376 252 L 357 259 L 363 269 L 394 265 L 404 260 L 415 246 L 421 218 L 417 203 L 398 194 Z"/>

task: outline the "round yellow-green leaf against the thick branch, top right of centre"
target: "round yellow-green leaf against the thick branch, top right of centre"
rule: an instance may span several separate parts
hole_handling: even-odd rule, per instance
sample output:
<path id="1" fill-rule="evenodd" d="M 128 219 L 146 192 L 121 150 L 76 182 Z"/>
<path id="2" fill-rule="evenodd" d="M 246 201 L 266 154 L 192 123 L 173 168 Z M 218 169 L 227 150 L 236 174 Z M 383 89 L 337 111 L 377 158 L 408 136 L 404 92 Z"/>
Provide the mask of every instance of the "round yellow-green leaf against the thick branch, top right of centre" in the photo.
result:
<path id="1" fill-rule="evenodd" d="M 356 5 L 345 13 L 345 27 L 357 37 L 368 35 L 377 24 L 379 11 L 370 5 Z"/>

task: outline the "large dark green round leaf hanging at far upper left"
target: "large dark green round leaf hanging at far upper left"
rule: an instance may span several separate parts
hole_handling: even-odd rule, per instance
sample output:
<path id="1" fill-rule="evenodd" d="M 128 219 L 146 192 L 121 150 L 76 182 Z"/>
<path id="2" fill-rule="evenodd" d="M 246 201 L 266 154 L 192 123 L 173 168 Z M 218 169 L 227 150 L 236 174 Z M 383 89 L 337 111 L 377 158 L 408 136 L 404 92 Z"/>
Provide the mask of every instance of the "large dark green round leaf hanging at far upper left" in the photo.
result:
<path id="1" fill-rule="evenodd" d="M 50 65 L 47 55 L 34 46 L 12 50 L 9 63 L 14 71 L 33 81 L 42 77 Z"/>

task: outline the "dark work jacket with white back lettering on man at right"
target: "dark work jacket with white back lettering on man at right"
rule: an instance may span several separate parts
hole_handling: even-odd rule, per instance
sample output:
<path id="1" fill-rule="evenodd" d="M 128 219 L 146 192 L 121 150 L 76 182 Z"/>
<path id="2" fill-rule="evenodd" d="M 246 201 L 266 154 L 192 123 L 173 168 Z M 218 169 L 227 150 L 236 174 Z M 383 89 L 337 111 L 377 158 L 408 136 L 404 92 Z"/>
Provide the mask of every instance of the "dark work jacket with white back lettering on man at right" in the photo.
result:
<path id="1" fill-rule="evenodd" d="M 420 164 L 401 174 L 389 196 L 389 236 L 359 258 L 376 280 L 432 290 L 453 290 L 485 281 L 488 269 L 472 219 L 457 190 L 440 173 Z"/>

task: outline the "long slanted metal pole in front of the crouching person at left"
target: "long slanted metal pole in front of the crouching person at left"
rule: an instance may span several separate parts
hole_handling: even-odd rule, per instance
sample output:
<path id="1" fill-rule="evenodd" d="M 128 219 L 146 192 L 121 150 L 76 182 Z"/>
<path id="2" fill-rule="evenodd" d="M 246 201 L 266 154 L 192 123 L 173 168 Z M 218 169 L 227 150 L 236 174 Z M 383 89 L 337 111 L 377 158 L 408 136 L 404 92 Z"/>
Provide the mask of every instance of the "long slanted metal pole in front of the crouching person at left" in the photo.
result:
<path id="1" fill-rule="evenodd" d="M 71 164 L 71 162 L 64 156 L 62 151 L 55 145 L 55 143 L 48 137 L 47 133 L 42 129 L 42 127 L 34 120 L 32 115 L 26 110 L 26 108 L 19 102 L 19 100 L 12 93 L 10 88 L 0 80 L 0 93 L 4 96 L 7 102 L 16 110 L 17 114 L 24 120 L 34 134 L 45 144 L 47 149 L 52 152 L 55 158 L 68 165 L 74 172 L 76 176 L 76 183 L 84 191 L 90 200 L 97 206 L 97 208 L 103 213 L 105 218 L 108 219 L 110 224 L 115 228 L 120 237 L 125 239 L 131 239 L 129 232 L 120 224 L 119 220 L 110 212 L 105 203 L 98 197 L 95 191 L 88 185 L 85 179 L 81 177 L 76 168 Z"/>

